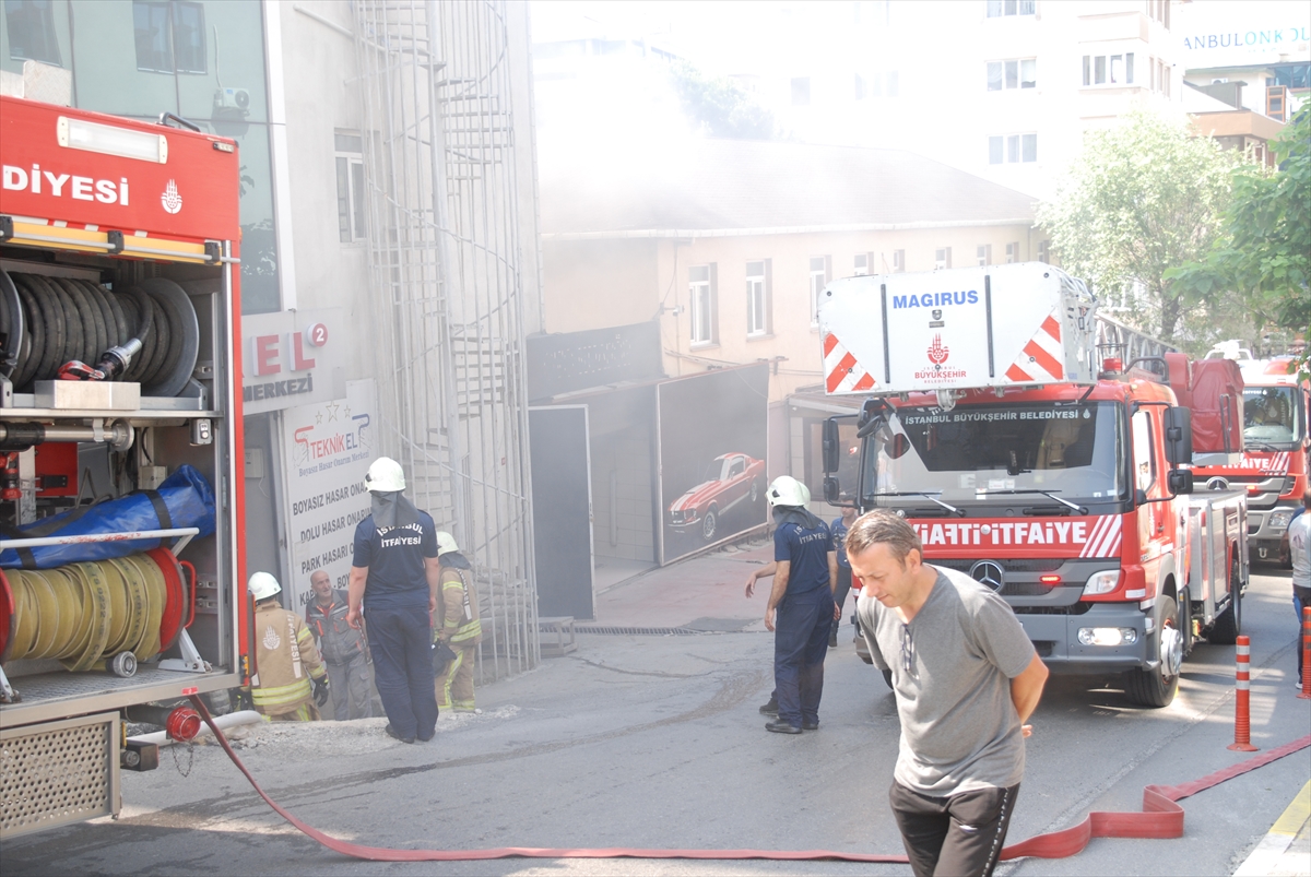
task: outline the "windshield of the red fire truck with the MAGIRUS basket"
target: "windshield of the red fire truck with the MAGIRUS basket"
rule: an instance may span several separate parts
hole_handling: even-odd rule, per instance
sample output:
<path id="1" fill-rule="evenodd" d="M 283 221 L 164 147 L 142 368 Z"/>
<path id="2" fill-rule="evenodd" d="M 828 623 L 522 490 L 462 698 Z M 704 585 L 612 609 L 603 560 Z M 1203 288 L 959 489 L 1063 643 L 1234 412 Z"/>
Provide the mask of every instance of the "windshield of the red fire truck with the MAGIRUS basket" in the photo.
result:
<path id="1" fill-rule="evenodd" d="M 1045 490 L 1067 501 L 1116 499 L 1126 493 L 1121 406 L 1116 402 L 898 408 L 865 455 L 865 497 L 922 490 L 947 502 L 987 493 Z M 889 451 L 905 434 L 909 448 Z M 1013 499 L 1009 499 L 1013 502 Z M 1033 503 L 1047 503 L 1034 494 Z"/>

